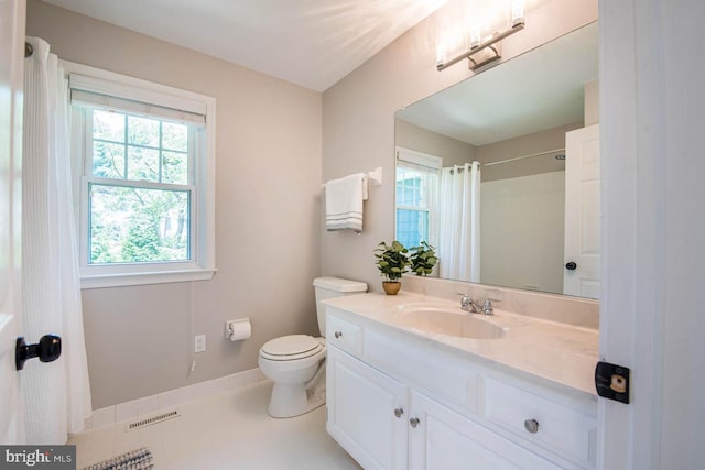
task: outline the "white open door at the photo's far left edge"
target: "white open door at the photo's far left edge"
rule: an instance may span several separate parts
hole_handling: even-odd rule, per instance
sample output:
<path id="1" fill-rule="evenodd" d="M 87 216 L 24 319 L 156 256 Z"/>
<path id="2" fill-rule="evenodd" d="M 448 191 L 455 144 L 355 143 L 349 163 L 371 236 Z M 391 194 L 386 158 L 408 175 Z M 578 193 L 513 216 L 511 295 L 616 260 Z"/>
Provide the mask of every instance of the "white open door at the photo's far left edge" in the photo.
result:
<path id="1" fill-rule="evenodd" d="M 22 328 L 20 195 L 25 3 L 0 1 L 0 444 L 23 444 L 14 346 Z"/>

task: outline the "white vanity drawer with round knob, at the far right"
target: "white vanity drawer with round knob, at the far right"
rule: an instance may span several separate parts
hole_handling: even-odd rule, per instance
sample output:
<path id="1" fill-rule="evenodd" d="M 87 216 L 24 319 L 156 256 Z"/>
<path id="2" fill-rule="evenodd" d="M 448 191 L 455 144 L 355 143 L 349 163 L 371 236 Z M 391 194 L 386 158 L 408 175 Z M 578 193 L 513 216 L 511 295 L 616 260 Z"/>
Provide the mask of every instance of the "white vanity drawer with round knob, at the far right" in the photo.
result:
<path id="1" fill-rule="evenodd" d="M 485 405 L 491 423 L 579 468 L 595 467 L 597 419 L 586 408 L 551 391 L 539 395 L 494 379 L 486 381 Z"/>

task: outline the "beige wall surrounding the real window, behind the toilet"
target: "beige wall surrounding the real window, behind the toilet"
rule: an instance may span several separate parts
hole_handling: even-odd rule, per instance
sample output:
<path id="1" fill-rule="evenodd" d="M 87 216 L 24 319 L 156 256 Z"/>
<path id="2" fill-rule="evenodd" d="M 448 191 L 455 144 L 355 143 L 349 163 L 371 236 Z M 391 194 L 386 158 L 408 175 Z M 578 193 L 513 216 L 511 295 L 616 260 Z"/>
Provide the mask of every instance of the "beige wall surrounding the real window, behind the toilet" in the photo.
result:
<path id="1" fill-rule="evenodd" d="M 63 59 L 217 99 L 218 273 L 83 291 L 94 408 L 256 368 L 264 341 L 317 334 L 321 94 L 36 0 L 26 33 Z M 235 317 L 252 338 L 224 339 Z M 198 334 L 207 350 L 193 354 Z"/>

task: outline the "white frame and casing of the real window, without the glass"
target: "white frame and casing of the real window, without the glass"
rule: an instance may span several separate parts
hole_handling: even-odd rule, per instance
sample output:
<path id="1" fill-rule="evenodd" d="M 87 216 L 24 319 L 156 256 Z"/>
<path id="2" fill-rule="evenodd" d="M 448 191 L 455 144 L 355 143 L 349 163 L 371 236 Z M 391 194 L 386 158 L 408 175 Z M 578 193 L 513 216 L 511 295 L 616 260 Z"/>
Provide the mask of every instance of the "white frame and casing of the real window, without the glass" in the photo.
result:
<path id="1" fill-rule="evenodd" d="M 70 107 L 72 168 L 74 170 L 74 185 L 77 189 L 74 190 L 74 208 L 78 227 L 82 288 L 148 285 L 212 278 L 217 271 L 215 263 L 215 98 L 67 61 L 62 61 L 61 63 L 69 77 L 72 77 L 72 74 L 88 77 L 88 80 L 93 80 L 99 88 L 105 87 L 108 92 L 116 90 L 116 96 L 120 98 L 133 99 L 170 109 L 196 107 L 203 110 L 205 118 L 202 131 L 194 132 L 189 127 L 189 160 L 194 155 L 191 145 L 200 145 L 203 152 L 200 152 L 200 155 L 195 155 L 194 165 L 189 168 L 193 172 L 193 182 L 181 186 L 191 190 L 189 260 L 89 264 L 89 184 L 108 182 L 110 186 L 143 187 L 148 189 L 156 188 L 158 185 L 134 179 L 120 181 L 94 177 L 91 175 L 91 156 L 89 154 L 93 149 L 93 135 L 88 132 L 93 127 L 93 122 L 87 122 L 87 117 L 90 112 L 87 109 Z M 124 113 L 133 114 L 130 111 L 124 111 Z M 159 116 L 153 116 L 152 118 L 164 121 L 170 120 Z M 192 135 L 197 136 L 195 141 L 191 140 Z M 120 183 L 116 184 L 116 182 Z"/>

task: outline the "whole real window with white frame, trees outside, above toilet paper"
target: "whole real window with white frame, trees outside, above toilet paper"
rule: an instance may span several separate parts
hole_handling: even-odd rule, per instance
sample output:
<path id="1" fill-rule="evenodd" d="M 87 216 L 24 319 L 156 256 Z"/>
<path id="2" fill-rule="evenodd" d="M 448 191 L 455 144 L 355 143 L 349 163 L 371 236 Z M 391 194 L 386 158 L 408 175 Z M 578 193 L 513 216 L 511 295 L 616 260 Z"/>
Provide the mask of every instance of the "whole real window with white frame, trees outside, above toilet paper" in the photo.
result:
<path id="1" fill-rule="evenodd" d="M 82 168 L 82 286 L 210 278 L 215 100 L 66 68 Z"/>

